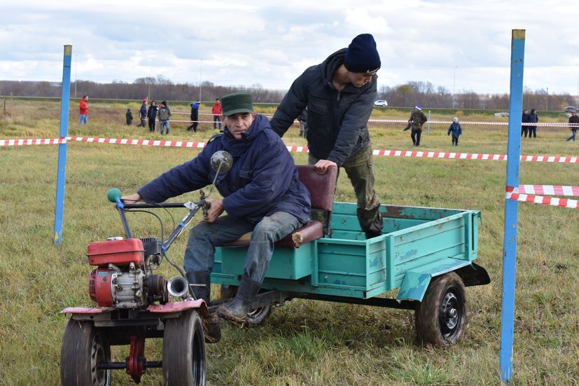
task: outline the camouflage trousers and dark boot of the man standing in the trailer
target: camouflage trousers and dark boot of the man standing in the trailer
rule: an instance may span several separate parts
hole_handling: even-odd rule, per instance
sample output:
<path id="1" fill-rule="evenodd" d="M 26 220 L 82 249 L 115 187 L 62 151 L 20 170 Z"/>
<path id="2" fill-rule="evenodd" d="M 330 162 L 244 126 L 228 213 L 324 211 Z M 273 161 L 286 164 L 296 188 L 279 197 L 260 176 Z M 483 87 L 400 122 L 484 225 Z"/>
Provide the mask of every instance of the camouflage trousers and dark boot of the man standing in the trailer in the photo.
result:
<path id="1" fill-rule="evenodd" d="M 318 159 L 308 156 L 309 165 L 314 165 Z M 374 190 L 375 174 L 374 161 L 372 159 L 372 144 L 358 151 L 342 165 L 354 187 L 358 209 L 356 216 L 366 238 L 376 237 L 382 234 L 382 215 L 380 214 L 380 201 Z M 338 172 L 340 170 L 338 169 Z"/>

